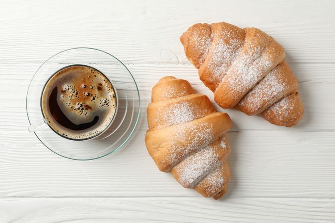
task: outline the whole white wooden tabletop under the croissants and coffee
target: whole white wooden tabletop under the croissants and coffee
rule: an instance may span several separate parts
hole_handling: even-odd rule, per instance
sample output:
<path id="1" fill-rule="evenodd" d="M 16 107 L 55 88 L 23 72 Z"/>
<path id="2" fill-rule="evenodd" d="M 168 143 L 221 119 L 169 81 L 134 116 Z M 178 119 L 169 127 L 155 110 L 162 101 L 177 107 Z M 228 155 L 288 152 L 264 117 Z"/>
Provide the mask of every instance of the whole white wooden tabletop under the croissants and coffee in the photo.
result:
<path id="1" fill-rule="evenodd" d="M 159 78 L 187 79 L 212 99 L 179 37 L 220 21 L 258 27 L 285 48 L 305 115 L 286 128 L 226 111 L 232 178 L 214 201 L 159 172 L 144 134 Z M 125 62 L 142 99 L 130 142 L 88 162 L 57 156 L 27 131 L 30 79 L 73 47 Z M 335 222 L 335 1 L 1 0 L 0 86 L 0 222 Z"/>

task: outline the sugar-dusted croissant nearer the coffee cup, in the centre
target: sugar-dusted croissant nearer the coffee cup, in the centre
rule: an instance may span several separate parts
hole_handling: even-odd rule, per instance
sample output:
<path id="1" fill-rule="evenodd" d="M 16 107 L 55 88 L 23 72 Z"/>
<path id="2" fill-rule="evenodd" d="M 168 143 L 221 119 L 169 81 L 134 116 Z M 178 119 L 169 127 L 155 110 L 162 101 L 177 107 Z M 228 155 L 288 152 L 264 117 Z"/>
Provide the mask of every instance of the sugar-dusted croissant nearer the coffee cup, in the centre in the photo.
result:
<path id="1" fill-rule="evenodd" d="M 167 76 L 152 88 L 147 120 L 145 145 L 159 170 L 204 197 L 226 193 L 230 146 L 225 133 L 232 125 L 227 113 L 215 111 L 188 81 Z"/>

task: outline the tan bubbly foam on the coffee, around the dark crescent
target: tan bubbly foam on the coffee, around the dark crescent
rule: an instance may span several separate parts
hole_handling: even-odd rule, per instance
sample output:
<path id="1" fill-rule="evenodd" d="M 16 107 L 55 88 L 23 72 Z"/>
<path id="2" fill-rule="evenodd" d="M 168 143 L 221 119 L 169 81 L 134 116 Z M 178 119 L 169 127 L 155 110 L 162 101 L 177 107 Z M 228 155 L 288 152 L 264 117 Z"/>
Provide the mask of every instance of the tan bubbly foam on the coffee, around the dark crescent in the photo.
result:
<path id="1" fill-rule="evenodd" d="M 50 111 L 49 97 L 57 87 L 57 103 L 76 125 L 99 120 L 84 130 L 71 130 L 56 121 Z M 66 67 L 53 75 L 42 94 L 42 111 L 49 125 L 59 134 L 72 139 L 86 139 L 103 131 L 116 111 L 116 94 L 111 82 L 98 70 L 82 65 Z"/>

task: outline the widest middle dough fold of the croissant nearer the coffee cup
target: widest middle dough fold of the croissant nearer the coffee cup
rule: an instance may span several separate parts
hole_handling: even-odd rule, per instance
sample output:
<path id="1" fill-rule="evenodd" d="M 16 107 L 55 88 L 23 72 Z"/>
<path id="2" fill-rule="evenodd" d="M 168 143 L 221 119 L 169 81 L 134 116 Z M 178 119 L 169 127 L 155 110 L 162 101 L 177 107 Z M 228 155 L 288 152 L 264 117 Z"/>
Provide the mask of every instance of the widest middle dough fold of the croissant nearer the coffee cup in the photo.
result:
<path id="1" fill-rule="evenodd" d="M 227 113 L 213 112 L 190 122 L 149 129 L 145 135 L 146 148 L 159 170 L 169 172 L 174 165 L 216 140 L 230 127 Z"/>

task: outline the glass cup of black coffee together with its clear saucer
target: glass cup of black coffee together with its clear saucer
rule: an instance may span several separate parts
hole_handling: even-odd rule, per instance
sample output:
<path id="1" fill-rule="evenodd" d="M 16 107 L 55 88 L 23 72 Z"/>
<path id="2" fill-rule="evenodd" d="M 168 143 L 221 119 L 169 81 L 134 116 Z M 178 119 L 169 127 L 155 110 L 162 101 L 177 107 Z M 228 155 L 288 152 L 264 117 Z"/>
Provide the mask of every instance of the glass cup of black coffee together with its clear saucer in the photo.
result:
<path id="1" fill-rule="evenodd" d="M 118 58 L 73 48 L 37 69 L 26 110 L 28 130 L 52 152 L 94 160 L 129 141 L 139 121 L 140 97 L 134 76 Z"/>

